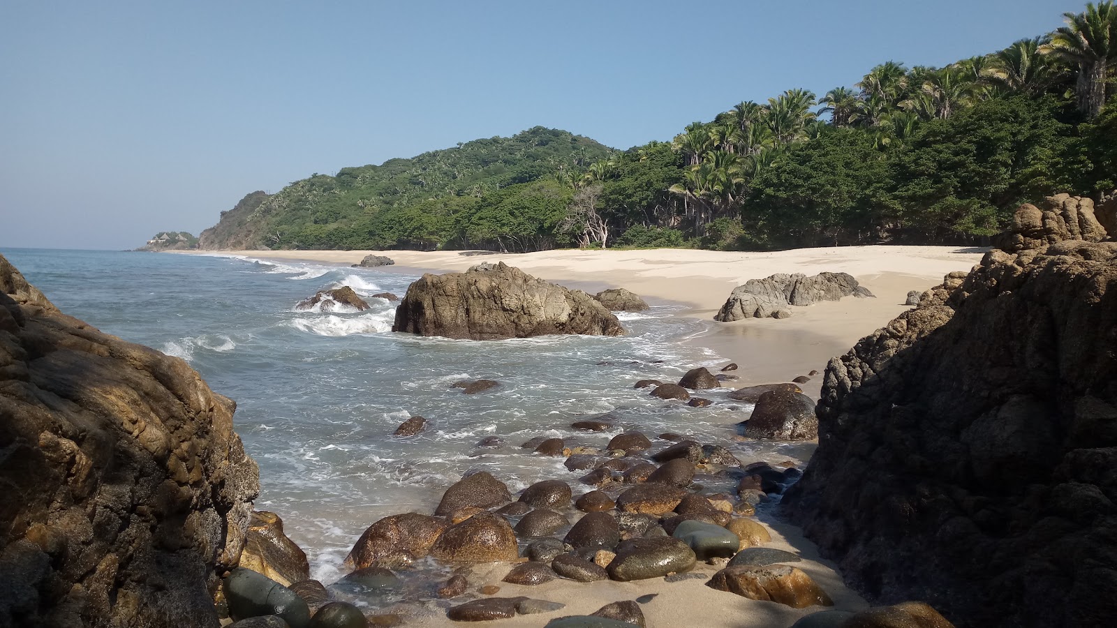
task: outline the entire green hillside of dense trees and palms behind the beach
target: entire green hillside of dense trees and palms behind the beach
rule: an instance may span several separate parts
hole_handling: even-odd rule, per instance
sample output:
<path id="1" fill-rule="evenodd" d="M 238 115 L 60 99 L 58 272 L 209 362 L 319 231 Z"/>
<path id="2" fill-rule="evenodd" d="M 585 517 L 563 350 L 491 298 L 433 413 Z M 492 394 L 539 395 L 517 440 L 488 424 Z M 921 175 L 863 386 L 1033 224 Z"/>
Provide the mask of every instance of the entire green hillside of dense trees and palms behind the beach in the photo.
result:
<path id="1" fill-rule="evenodd" d="M 250 194 L 204 248 L 719 249 L 975 242 L 1117 187 L 1117 6 L 943 68 L 888 61 L 612 151 L 535 127 Z M 256 192 L 254 194 L 262 194 Z"/>

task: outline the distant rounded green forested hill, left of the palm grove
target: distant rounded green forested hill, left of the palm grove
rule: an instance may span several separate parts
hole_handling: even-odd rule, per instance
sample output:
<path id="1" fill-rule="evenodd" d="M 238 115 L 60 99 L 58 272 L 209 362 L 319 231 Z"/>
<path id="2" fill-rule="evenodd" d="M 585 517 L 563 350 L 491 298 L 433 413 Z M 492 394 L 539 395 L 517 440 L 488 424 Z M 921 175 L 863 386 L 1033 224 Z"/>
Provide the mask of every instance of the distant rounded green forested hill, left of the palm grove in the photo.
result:
<path id="1" fill-rule="evenodd" d="M 512 137 L 343 168 L 275 194 L 246 196 L 202 231 L 200 247 L 548 248 L 555 245 L 548 234 L 571 197 L 556 175 L 582 171 L 609 153 L 589 137 L 536 126 Z M 521 223 L 502 232 L 493 220 Z"/>

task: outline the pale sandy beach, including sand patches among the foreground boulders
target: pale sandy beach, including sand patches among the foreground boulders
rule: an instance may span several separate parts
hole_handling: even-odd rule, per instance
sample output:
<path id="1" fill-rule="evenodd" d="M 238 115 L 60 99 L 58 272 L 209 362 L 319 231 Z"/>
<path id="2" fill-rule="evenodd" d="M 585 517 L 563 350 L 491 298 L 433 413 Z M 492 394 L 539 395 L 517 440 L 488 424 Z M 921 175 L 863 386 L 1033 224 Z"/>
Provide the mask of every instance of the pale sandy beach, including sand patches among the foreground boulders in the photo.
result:
<path id="1" fill-rule="evenodd" d="M 739 364 L 738 386 L 787 381 L 812 369 L 822 371 L 827 361 L 844 353 L 860 337 L 882 326 L 906 310 L 908 291 L 925 291 L 941 283 L 954 270 L 968 270 L 984 254 L 981 249 L 932 246 L 877 246 L 799 249 L 779 253 L 722 253 L 689 249 L 656 250 L 553 250 L 532 254 L 491 254 L 483 251 L 206 251 L 262 259 L 297 259 L 350 265 L 367 254 L 386 255 L 394 266 L 380 267 L 389 273 L 456 272 L 480 261 L 504 261 L 537 277 L 570 287 L 596 292 L 605 287 L 626 287 L 651 303 L 687 305 L 680 316 L 707 321 L 707 331 L 686 342 L 712 349 L 726 360 Z M 875 298 L 847 297 L 810 307 L 796 307 L 785 320 L 746 320 L 715 323 L 713 315 L 732 289 L 751 278 L 774 273 L 844 272 L 853 275 Z M 804 386 L 804 391 L 818 397 L 821 377 Z M 813 543 L 801 531 L 776 521 L 764 521 L 772 534 L 765 546 L 799 553 L 804 560 L 795 563 L 810 574 L 833 599 L 836 609 L 861 610 L 868 603 L 847 588 L 833 564 L 822 560 Z M 558 613 L 537 617 L 517 616 L 481 626 L 542 626 L 546 619 L 562 615 L 590 613 L 602 606 L 638 596 L 657 593 L 641 609 L 649 626 L 710 627 L 780 627 L 790 626 L 799 617 L 821 610 L 820 607 L 792 609 L 774 603 L 748 600 L 705 586 L 717 568 L 699 564 L 698 573 L 706 578 L 666 582 L 653 579 L 638 582 L 602 581 L 571 584 L 553 581 L 526 587 L 502 582 L 508 564 L 477 565 L 470 582 L 497 584 L 499 597 L 529 596 L 563 602 Z M 440 625 L 443 617 L 414 618 L 423 625 Z"/>

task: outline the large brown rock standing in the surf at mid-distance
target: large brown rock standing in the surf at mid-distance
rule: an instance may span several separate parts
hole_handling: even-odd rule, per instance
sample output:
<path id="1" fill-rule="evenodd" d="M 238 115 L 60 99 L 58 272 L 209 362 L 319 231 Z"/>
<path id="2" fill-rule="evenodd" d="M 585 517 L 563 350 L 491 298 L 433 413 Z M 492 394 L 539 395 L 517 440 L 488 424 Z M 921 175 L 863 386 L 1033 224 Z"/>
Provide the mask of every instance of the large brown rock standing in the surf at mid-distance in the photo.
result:
<path id="1" fill-rule="evenodd" d="M 392 331 L 472 340 L 624 333 L 617 316 L 590 295 L 503 261 L 466 273 L 423 275 L 408 287 Z"/>

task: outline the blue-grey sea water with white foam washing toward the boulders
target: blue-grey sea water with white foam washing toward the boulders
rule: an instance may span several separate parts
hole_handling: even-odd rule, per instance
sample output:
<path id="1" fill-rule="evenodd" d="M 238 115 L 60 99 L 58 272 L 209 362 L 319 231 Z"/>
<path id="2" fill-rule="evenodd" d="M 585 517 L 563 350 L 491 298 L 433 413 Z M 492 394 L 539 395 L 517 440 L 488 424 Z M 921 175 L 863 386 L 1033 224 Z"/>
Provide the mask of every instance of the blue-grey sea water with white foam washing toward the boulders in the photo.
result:
<path id="1" fill-rule="evenodd" d="M 786 444 L 742 443 L 734 425 L 751 406 L 701 391 L 708 408 L 662 401 L 633 388 L 641 379 L 678 381 L 687 370 L 725 362 L 684 345 L 705 322 L 680 305 L 619 315 L 620 337 L 543 336 L 468 341 L 392 333 L 395 304 L 418 278 L 399 269 L 351 268 L 242 256 L 6 249 L 0 251 L 67 314 L 104 332 L 181 358 L 214 391 L 237 401 L 235 425 L 260 467 L 257 510 L 278 513 L 328 583 L 361 533 L 397 513 L 430 513 L 470 469 L 513 492 L 562 478 L 575 495 L 585 472 L 521 444 L 537 436 L 603 447 L 624 429 L 722 445 L 748 463 L 802 462 Z M 296 311 L 315 292 L 347 285 L 371 310 Z M 491 379 L 478 394 L 457 381 Z M 588 434 L 570 424 L 608 412 L 617 429 Z M 418 436 L 392 436 L 411 416 Z M 488 436 L 504 445 L 478 448 Z M 728 487 L 728 486 L 727 486 Z"/>

